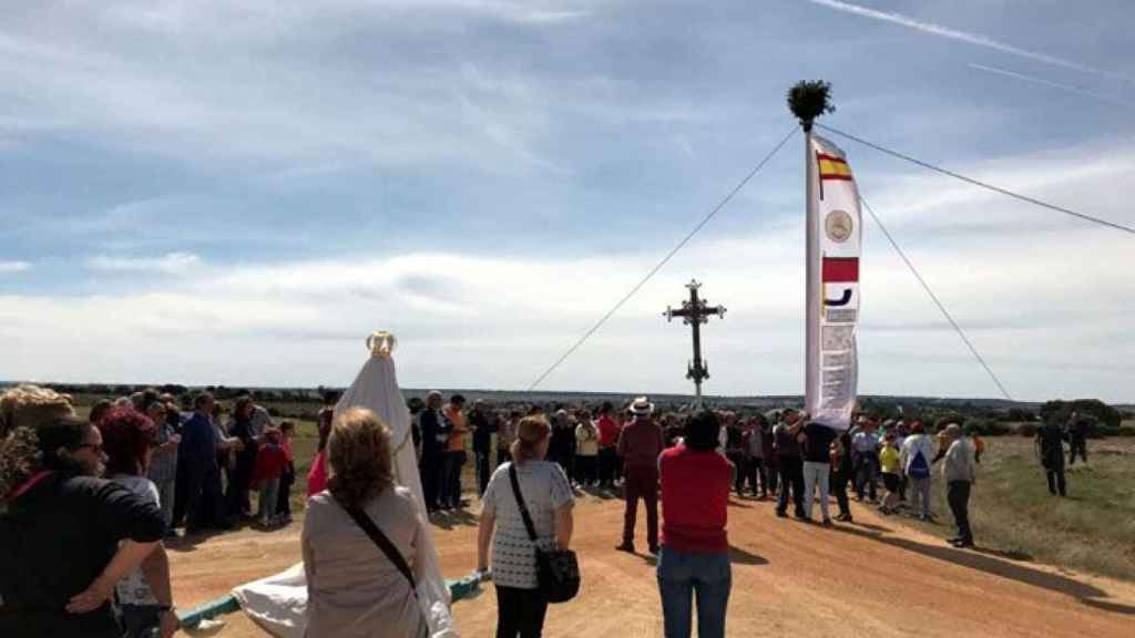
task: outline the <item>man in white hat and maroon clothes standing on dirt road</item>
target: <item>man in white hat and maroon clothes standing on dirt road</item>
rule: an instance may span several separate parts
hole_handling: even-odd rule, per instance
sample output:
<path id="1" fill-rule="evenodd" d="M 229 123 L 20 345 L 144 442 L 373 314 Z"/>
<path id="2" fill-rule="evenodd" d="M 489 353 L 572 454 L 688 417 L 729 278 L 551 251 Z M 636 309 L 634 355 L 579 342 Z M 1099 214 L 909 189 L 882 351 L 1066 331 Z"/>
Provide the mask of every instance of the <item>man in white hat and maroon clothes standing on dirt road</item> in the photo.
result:
<path id="1" fill-rule="evenodd" d="M 619 436 L 619 455 L 623 457 L 623 542 L 615 549 L 634 552 L 634 519 L 638 501 L 646 502 L 646 538 L 651 554 L 658 553 L 658 455 L 665 448 L 659 428 L 650 414 L 654 404 L 640 396 L 631 403 L 634 420 Z"/>

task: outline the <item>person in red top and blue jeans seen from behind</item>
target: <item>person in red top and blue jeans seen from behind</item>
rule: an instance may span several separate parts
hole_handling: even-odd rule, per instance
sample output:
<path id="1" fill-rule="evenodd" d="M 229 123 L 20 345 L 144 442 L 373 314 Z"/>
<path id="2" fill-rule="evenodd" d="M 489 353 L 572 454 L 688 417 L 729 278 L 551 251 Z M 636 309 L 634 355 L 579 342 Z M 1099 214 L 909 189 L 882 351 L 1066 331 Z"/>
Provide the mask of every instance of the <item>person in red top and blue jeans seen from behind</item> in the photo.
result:
<path id="1" fill-rule="evenodd" d="M 701 411 L 687 423 L 686 440 L 658 457 L 662 479 L 662 551 L 658 591 L 666 638 L 689 638 L 693 598 L 698 636 L 724 638 L 732 589 L 725 534 L 732 464 L 717 453 L 720 423 Z"/>

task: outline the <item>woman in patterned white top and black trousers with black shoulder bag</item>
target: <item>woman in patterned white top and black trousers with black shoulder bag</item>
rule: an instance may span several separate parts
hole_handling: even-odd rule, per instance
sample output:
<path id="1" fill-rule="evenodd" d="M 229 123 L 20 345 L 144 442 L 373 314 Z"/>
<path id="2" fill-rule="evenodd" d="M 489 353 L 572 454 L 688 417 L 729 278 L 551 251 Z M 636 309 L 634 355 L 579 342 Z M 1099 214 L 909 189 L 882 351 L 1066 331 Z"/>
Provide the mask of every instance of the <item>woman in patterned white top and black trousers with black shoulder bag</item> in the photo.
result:
<path id="1" fill-rule="evenodd" d="M 477 535 L 477 569 L 488 572 L 491 543 L 497 638 L 540 636 L 548 610 L 548 601 L 537 579 L 535 547 L 510 475 L 514 473 L 518 479 L 540 549 L 568 549 L 571 544 L 574 501 L 563 469 L 544 460 L 550 435 L 552 427 L 544 417 L 521 419 L 516 440 L 512 444 L 512 462 L 496 469 L 485 490 Z"/>

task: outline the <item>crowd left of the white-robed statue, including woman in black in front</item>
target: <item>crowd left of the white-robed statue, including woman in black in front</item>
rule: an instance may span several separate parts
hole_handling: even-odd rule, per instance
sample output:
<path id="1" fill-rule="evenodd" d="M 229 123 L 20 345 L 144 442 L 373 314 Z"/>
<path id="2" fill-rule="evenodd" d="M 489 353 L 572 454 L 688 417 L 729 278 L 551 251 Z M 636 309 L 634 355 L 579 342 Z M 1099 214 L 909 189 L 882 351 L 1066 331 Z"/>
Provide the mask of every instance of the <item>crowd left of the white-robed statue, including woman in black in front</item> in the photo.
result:
<path id="1" fill-rule="evenodd" d="M 183 413 L 152 389 L 100 401 L 82 420 L 67 395 L 5 392 L 0 636 L 171 635 L 162 540 L 183 526 L 192 534 L 291 520 L 293 433 L 249 393 L 227 420 L 209 393 Z"/>

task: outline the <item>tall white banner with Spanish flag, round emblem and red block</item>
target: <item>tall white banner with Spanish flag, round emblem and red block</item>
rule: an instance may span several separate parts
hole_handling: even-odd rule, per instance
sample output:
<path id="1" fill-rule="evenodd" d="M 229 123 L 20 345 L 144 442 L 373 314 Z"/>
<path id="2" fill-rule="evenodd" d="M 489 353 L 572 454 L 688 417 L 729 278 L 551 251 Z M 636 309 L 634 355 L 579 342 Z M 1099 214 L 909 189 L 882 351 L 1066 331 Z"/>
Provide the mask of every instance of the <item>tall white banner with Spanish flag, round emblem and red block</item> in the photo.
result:
<path id="1" fill-rule="evenodd" d="M 809 135 L 808 312 L 805 409 L 825 426 L 847 429 L 856 403 L 859 191 L 843 151 Z"/>

